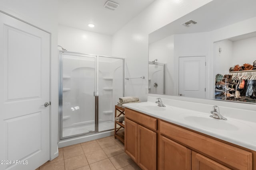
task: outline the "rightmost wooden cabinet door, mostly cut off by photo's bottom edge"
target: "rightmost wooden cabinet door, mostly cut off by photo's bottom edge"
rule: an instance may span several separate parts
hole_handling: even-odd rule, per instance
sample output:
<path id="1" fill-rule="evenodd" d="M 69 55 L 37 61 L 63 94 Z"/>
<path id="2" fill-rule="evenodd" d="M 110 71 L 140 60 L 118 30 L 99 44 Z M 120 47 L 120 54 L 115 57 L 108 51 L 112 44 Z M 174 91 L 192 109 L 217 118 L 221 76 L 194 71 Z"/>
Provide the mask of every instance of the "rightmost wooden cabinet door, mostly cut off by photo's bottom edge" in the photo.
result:
<path id="1" fill-rule="evenodd" d="M 230 170 L 201 154 L 192 152 L 192 170 Z"/>

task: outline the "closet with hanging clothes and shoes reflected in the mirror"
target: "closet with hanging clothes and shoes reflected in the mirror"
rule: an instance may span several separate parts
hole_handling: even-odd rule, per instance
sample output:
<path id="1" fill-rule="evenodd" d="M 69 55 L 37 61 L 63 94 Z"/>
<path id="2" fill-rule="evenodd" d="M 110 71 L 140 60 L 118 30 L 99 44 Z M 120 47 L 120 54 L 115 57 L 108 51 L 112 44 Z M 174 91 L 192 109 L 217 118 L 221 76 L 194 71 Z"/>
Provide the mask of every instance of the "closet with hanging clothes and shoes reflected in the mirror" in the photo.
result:
<path id="1" fill-rule="evenodd" d="M 256 32 L 214 42 L 214 75 L 224 75 L 222 85 L 215 84 L 215 99 L 256 103 L 256 70 L 233 70 L 247 63 L 253 68 L 255 47 Z"/>

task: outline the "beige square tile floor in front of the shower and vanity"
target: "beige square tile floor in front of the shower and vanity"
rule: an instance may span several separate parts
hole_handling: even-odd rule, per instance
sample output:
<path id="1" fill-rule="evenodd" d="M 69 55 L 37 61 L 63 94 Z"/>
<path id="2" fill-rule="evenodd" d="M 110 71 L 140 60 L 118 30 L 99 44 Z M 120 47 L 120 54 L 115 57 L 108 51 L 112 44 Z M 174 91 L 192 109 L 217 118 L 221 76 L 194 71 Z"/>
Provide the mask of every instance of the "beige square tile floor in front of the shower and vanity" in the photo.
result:
<path id="1" fill-rule="evenodd" d="M 114 136 L 59 148 L 59 156 L 36 170 L 141 170 Z"/>

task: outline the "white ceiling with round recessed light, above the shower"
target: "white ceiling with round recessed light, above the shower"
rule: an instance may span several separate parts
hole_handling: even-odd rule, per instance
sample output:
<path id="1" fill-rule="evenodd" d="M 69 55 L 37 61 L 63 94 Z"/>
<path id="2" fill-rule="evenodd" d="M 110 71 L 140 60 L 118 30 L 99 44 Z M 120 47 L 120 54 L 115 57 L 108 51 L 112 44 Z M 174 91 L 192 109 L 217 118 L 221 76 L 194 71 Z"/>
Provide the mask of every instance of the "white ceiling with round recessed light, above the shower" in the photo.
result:
<path id="1" fill-rule="evenodd" d="M 113 35 L 154 0 L 110 0 L 119 4 L 116 10 L 104 8 L 107 0 L 58 0 L 60 25 Z M 95 25 L 88 27 L 89 23 Z"/>

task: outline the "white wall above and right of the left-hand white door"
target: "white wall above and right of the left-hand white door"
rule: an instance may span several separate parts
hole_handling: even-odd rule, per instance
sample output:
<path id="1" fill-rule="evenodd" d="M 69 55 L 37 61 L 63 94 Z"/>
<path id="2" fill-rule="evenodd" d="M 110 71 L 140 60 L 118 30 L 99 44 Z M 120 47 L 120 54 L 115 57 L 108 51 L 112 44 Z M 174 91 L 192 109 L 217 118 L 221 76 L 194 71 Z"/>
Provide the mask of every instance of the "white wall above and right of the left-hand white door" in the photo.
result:
<path id="1" fill-rule="evenodd" d="M 51 159 L 58 156 L 57 1 L 1 0 L 0 10 L 51 33 Z"/>

